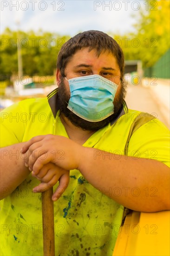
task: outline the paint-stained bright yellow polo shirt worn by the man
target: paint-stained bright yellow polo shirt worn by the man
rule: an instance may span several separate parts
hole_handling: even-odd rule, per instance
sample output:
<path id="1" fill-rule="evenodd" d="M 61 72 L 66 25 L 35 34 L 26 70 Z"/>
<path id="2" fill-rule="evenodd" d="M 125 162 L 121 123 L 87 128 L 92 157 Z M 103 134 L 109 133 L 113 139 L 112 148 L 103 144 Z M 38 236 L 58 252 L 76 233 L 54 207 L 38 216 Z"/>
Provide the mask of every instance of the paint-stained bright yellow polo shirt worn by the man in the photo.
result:
<path id="1" fill-rule="evenodd" d="M 50 108 L 45 98 L 28 99 L 4 109 L 1 112 L 0 147 L 28 141 L 36 135 L 68 137 L 59 118 L 59 111 L 54 115 L 52 104 Z M 117 121 L 99 129 L 83 146 L 105 150 L 112 153 L 113 158 L 120 159 L 124 155 L 131 125 L 140 114 L 138 111 L 128 111 L 125 103 L 122 111 Z M 168 165 L 168 136 L 169 130 L 160 121 L 147 121 L 146 115 L 146 122 L 131 136 L 127 155 L 157 159 Z M 103 154 L 105 157 L 106 152 Z M 11 157 L 21 157 L 20 152 Z M 98 150 L 94 157 L 97 160 Z M 30 174 L 13 193 L 1 200 L 0 255 L 43 255 L 41 194 L 32 192 L 38 184 L 39 181 Z M 71 170 L 68 188 L 54 202 L 56 255 L 112 255 L 120 232 L 124 206 L 108 196 L 111 193 L 119 196 L 124 190 L 119 186 L 101 189 L 105 195 L 88 183 L 78 170 Z"/>

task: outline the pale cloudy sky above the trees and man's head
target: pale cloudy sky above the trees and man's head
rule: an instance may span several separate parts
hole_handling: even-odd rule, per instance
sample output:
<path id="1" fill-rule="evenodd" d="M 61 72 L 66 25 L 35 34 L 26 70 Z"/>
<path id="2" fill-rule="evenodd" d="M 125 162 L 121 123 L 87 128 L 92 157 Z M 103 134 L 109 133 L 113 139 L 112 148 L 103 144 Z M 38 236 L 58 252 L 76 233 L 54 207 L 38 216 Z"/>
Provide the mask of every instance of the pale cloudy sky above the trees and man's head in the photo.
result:
<path id="1" fill-rule="evenodd" d="M 85 30 L 111 34 L 134 31 L 137 13 L 146 0 L 0 0 L 0 33 L 11 30 L 75 35 Z M 20 24 L 20 25 L 18 25 Z M 109 34 L 109 33 L 108 33 Z"/>

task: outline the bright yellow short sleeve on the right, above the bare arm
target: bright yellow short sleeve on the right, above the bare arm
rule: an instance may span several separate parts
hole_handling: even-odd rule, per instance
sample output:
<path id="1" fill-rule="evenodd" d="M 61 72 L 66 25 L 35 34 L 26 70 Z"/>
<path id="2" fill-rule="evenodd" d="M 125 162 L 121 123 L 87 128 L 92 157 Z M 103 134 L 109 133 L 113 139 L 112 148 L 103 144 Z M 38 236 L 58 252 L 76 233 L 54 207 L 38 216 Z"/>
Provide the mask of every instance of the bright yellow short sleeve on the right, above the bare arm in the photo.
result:
<path id="1" fill-rule="evenodd" d="M 138 128 L 131 136 L 128 155 L 153 159 L 170 166 L 170 131 L 158 119 Z"/>

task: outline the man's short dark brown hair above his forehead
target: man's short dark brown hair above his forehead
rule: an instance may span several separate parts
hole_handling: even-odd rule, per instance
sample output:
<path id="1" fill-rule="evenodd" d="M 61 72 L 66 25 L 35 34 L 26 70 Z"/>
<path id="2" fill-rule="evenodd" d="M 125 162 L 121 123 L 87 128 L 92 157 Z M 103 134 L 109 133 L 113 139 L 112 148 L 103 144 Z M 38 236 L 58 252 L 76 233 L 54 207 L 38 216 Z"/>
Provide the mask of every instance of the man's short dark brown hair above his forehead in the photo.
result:
<path id="1" fill-rule="evenodd" d="M 75 35 L 63 44 L 57 58 L 57 68 L 65 76 L 65 67 L 71 57 L 83 47 L 89 47 L 89 52 L 96 49 L 98 56 L 101 52 L 110 52 L 117 60 L 121 80 L 124 75 L 124 54 L 118 43 L 108 34 L 97 30 L 89 30 Z"/>

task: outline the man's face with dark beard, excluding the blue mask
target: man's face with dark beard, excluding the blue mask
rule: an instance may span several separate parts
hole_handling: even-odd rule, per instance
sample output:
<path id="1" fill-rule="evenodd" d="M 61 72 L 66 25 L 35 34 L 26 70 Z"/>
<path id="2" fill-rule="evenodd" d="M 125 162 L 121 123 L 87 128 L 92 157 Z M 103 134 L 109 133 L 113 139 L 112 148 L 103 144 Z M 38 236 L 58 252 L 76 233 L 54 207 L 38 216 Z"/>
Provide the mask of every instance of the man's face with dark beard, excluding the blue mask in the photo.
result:
<path id="1" fill-rule="evenodd" d="M 67 108 L 68 101 L 70 99 L 70 88 L 69 83 L 65 78 L 61 77 L 60 72 L 58 72 L 59 82 L 59 106 L 60 113 L 64 114 L 75 126 L 78 126 L 85 130 L 98 130 L 107 125 L 111 120 L 118 115 L 120 106 L 124 99 L 124 87 L 120 82 L 120 70 L 115 57 L 108 53 L 101 53 L 97 56 L 96 50 L 88 52 L 89 48 L 85 47 L 78 50 L 72 58 L 69 60 L 65 67 L 65 77 L 67 80 L 75 77 L 82 77 L 92 74 L 98 74 L 105 77 L 112 82 L 119 84 L 118 90 L 116 92 L 113 104 L 114 104 L 114 114 L 108 118 L 98 121 L 90 122 L 86 121 Z"/>

